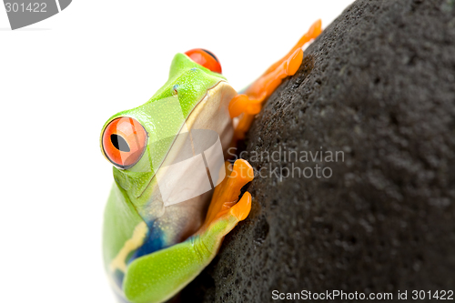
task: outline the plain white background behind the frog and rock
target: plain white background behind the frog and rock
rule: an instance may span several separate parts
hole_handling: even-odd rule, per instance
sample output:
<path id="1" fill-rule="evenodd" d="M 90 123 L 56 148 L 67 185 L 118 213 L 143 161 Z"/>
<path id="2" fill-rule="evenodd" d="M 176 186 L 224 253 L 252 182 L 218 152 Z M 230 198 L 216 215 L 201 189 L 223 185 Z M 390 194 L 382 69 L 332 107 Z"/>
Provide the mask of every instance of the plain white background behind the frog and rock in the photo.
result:
<path id="1" fill-rule="evenodd" d="M 207 48 L 240 89 L 351 2 L 76 0 L 16 31 L 0 7 L 0 302 L 114 302 L 99 132 L 166 82 L 177 52 Z"/>

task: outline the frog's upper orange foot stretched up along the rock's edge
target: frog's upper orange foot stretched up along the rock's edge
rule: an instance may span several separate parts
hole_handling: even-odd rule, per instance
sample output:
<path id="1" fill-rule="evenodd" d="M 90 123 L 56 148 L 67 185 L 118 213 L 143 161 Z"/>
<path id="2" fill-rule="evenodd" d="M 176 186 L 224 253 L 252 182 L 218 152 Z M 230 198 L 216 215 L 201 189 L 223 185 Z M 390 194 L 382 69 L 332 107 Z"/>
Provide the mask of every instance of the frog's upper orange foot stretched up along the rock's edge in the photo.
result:
<path id="1" fill-rule="evenodd" d="M 248 86 L 244 94 L 238 94 L 229 103 L 229 114 L 231 117 L 240 116 L 236 127 L 236 138 L 243 138 L 257 115 L 263 102 L 281 84 L 287 76 L 293 76 L 298 71 L 298 67 L 303 60 L 302 46 L 315 39 L 321 33 L 321 21 L 318 20 L 303 35 L 297 45 L 288 52 L 286 56 L 278 60 L 275 64 L 268 67 L 268 70 L 258 78 L 251 86 Z"/>

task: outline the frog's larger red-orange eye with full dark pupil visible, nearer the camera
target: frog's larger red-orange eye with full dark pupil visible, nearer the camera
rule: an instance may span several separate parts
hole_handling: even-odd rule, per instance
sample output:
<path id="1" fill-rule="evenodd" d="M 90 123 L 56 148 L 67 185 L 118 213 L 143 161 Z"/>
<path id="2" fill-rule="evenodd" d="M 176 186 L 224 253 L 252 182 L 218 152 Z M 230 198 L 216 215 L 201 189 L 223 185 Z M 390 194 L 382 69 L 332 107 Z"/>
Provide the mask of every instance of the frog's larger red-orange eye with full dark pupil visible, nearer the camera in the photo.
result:
<path id="1" fill-rule="evenodd" d="M 147 132 L 131 117 L 118 117 L 105 128 L 102 137 L 103 153 L 116 167 L 134 166 L 147 146 Z"/>

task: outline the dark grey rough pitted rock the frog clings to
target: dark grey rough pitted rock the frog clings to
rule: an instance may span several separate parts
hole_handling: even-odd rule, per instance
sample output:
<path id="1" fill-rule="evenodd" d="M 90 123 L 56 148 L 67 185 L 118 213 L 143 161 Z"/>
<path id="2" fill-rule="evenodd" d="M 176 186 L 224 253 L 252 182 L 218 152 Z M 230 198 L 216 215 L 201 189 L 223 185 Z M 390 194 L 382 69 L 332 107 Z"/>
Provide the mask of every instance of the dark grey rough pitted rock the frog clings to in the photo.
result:
<path id="1" fill-rule="evenodd" d="M 251 214 L 182 301 L 455 288 L 455 0 L 349 6 L 244 144 L 263 175 L 281 172 L 248 186 Z M 252 157 L 279 148 L 281 159 Z M 284 150 L 342 151 L 344 161 L 289 162 Z M 332 176 L 284 168 L 308 176 L 316 165 Z"/>

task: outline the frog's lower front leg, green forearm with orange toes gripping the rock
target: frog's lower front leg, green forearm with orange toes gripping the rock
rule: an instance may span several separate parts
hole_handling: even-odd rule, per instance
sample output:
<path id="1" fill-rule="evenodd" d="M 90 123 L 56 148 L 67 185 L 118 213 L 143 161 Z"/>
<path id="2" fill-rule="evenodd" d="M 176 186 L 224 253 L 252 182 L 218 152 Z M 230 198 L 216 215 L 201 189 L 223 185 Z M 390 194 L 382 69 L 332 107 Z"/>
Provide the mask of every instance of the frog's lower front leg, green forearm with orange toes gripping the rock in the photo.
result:
<path id="1" fill-rule="evenodd" d="M 227 233 L 248 216 L 251 195 L 246 192 L 240 201 L 238 195 L 252 179 L 252 167 L 237 160 L 231 174 L 215 188 L 206 220 L 194 236 L 128 265 L 123 283 L 126 298 L 133 303 L 163 302 L 196 278 L 216 256 Z"/>

